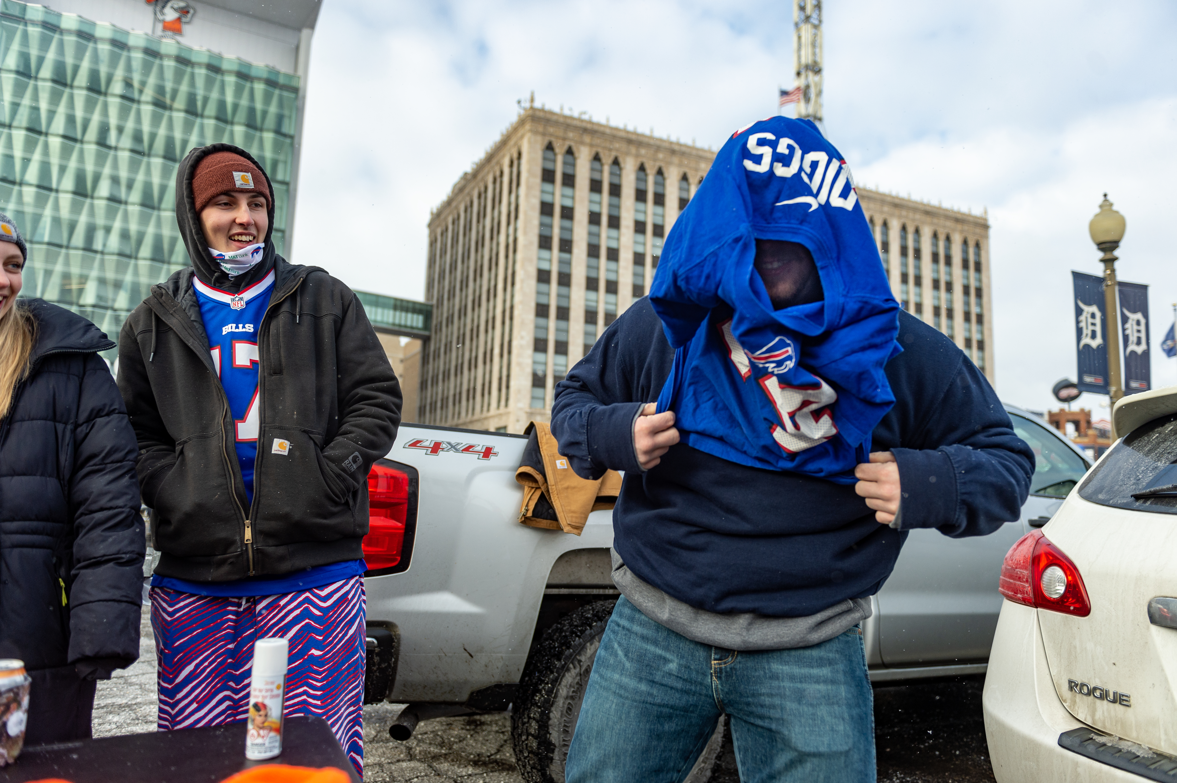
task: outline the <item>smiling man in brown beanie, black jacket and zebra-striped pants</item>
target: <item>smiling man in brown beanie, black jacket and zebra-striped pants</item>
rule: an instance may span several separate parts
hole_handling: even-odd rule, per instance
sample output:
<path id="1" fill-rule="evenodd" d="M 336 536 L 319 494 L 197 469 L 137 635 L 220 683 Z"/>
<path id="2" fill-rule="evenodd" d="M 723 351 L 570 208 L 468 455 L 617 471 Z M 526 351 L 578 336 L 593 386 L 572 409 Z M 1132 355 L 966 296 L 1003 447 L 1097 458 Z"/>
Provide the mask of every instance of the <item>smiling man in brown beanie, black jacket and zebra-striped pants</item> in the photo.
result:
<path id="1" fill-rule="evenodd" d="M 244 149 L 175 180 L 192 266 L 127 319 L 119 388 L 154 510 L 159 728 L 244 721 L 253 643 L 290 643 L 285 715 L 364 752 L 367 471 L 400 387 L 359 300 L 273 243 L 274 189 Z"/>

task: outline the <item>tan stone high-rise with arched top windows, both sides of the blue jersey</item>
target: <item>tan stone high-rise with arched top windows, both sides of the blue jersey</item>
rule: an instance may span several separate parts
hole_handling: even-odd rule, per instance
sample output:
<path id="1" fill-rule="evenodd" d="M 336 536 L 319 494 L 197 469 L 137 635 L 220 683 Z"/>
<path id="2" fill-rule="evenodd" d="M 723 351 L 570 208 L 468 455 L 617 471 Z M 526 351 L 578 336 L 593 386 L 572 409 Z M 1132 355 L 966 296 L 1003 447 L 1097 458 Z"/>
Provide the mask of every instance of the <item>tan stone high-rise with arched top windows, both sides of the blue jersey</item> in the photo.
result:
<path id="1" fill-rule="evenodd" d="M 511 433 L 547 421 L 554 383 L 649 293 L 663 240 L 713 159 L 691 145 L 525 109 L 430 218 L 433 321 L 417 417 Z M 992 379 L 988 222 L 858 193 L 896 299 L 951 334 Z"/>

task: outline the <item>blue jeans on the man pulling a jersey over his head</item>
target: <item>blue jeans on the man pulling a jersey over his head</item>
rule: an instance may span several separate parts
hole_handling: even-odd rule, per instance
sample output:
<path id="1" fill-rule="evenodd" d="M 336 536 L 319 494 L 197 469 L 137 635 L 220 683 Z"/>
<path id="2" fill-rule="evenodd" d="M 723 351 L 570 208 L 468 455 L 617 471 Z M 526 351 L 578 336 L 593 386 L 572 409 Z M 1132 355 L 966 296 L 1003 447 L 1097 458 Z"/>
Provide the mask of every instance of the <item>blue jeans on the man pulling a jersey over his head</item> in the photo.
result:
<path id="1" fill-rule="evenodd" d="M 623 596 L 593 663 L 567 783 L 677 783 L 719 716 L 743 783 L 875 781 L 873 694 L 859 628 L 793 650 L 692 642 Z"/>

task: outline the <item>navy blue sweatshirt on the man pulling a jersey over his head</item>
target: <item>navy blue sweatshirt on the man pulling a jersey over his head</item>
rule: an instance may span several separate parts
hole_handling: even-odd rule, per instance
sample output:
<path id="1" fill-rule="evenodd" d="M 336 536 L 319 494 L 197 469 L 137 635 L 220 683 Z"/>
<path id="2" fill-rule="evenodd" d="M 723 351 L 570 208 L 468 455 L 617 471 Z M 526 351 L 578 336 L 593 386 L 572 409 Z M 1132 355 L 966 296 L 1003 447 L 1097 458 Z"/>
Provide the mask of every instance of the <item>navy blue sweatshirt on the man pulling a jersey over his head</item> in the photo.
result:
<path id="1" fill-rule="evenodd" d="M 804 617 L 878 593 L 912 528 L 952 537 L 1017 520 L 1033 453 L 985 376 L 907 313 L 886 364 L 896 404 L 872 449 L 895 454 L 902 530 L 855 487 L 751 468 L 679 443 L 643 471 L 633 420 L 674 360 L 649 300 L 633 303 L 556 387 L 552 433 L 576 473 L 624 470 L 613 547 L 638 577 L 698 609 Z"/>

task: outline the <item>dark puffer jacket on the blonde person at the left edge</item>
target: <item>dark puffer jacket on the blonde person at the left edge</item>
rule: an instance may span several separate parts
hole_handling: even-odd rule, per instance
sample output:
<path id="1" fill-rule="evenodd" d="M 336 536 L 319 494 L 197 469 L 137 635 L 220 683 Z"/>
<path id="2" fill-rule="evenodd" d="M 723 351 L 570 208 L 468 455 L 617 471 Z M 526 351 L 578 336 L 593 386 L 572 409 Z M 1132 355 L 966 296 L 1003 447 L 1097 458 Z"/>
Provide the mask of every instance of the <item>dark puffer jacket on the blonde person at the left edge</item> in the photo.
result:
<path id="1" fill-rule="evenodd" d="M 22 301 L 36 340 L 0 420 L 0 651 L 31 670 L 122 668 L 139 657 L 146 543 L 134 431 L 98 356 L 114 343 Z"/>

